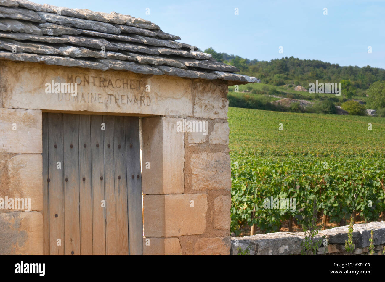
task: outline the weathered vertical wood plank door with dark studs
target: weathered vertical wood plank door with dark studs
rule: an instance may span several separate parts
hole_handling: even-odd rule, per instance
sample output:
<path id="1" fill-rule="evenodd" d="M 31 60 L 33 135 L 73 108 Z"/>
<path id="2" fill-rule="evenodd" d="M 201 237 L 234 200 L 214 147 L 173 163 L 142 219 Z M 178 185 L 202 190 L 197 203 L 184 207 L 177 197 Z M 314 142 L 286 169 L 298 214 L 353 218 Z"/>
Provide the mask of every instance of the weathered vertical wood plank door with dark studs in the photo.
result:
<path id="1" fill-rule="evenodd" d="M 42 121 L 44 254 L 142 255 L 139 118 Z"/>

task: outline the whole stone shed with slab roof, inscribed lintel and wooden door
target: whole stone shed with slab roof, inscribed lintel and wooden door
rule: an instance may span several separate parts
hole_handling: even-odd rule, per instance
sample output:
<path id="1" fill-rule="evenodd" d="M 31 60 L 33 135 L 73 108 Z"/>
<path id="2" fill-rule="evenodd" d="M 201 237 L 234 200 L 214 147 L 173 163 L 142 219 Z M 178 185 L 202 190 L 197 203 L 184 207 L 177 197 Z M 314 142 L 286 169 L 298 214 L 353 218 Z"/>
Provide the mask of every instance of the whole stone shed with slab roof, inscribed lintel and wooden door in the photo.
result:
<path id="1" fill-rule="evenodd" d="M 0 254 L 229 255 L 229 85 L 129 15 L 0 0 Z"/>

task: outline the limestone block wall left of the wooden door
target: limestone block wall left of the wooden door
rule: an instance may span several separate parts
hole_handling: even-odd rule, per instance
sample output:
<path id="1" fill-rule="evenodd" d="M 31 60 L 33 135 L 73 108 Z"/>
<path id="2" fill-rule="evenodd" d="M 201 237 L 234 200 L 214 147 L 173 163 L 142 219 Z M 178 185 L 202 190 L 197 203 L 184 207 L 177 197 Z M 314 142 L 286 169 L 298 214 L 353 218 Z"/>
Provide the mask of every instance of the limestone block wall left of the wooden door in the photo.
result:
<path id="1" fill-rule="evenodd" d="M 42 111 L 0 107 L 0 255 L 43 254 L 41 153 Z"/>

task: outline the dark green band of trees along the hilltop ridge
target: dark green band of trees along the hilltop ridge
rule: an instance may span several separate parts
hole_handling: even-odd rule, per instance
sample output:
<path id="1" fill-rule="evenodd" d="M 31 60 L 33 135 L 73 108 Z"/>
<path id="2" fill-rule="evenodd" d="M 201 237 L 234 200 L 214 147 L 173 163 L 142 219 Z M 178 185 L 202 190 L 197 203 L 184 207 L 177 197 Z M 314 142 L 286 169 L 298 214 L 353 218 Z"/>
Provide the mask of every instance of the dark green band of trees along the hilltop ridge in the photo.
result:
<path id="1" fill-rule="evenodd" d="M 316 80 L 323 83 L 346 80 L 350 82 L 346 96 L 350 96 L 352 92 L 357 96 L 363 96 L 363 90 L 367 90 L 373 82 L 385 80 L 385 70 L 370 66 L 362 68 L 357 66 L 341 67 L 338 64 L 320 60 L 300 60 L 293 56 L 267 62 L 217 53 L 213 48 L 206 49 L 205 52 L 213 54 L 215 59 L 217 55 L 214 54 L 221 54 L 221 62 L 229 62 L 231 65 L 238 67 L 241 74 L 258 77 L 262 83 L 271 85 L 292 84 L 294 81 L 295 86 L 302 85 L 306 88 L 309 83 L 314 83 Z M 277 74 L 281 75 L 278 80 L 275 77 Z M 280 80 L 283 81 L 283 84 L 281 84 Z"/>

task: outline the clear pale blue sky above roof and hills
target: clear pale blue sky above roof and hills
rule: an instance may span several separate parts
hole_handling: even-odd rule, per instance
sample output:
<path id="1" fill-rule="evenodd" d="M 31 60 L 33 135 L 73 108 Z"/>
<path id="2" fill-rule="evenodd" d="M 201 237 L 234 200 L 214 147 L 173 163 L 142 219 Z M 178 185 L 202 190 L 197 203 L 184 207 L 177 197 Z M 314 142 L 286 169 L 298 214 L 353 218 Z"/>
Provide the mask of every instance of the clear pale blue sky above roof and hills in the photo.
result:
<path id="1" fill-rule="evenodd" d="M 201 50 L 213 47 L 248 59 L 294 56 L 385 68 L 385 0 L 33 2 L 144 18 Z M 239 15 L 234 15 L 235 8 Z M 283 53 L 278 53 L 280 46 Z"/>

